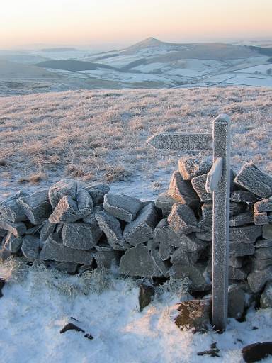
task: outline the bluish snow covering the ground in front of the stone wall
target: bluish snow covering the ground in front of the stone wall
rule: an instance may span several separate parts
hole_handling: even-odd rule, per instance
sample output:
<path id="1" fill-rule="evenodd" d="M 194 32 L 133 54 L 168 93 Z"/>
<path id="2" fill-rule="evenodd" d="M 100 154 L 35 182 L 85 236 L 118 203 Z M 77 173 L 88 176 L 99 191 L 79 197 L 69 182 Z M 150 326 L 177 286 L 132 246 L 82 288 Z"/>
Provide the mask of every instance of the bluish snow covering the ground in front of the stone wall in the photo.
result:
<path id="1" fill-rule="evenodd" d="M 0 276 L 3 274 L 0 267 Z M 251 309 L 244 323 L 229 319 L 223 334 L 193 334 L 179 330 L 173 321 L 176 303 L 186 300 L 187 294 L 178 296 L 162 287 L 140 313 L 139 282 L 105 272 L 76 277 L 42 267 L 28 268 L 26 277 L 4 286 L 0 298 L 0 361 L 239 363 L 243 362 L 242 347 L 271 340 L 272 309 Z M 69 322 L 91 333 L 94 340 L 74 330 L 60 334 Z M 209 350 L 213 342 L 217 342 L 220 357 L 197 355 Z"/>

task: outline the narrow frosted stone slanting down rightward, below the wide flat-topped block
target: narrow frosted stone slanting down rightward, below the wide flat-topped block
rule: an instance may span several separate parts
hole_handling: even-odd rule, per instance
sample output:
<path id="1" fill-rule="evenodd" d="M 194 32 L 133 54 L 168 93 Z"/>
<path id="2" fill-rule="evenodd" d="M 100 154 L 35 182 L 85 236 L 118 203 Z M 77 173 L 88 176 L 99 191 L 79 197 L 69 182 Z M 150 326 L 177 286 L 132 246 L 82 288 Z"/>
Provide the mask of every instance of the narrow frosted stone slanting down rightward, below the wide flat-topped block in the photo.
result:
<path id="1" fill-rule="evenodd" d="M 113 247 L 113 249 L 116 249 L 117 245 L 125 245 L 121 225 L 117 218 L 111 216 L 111 214 L 106 211 L 101 211 L 96 213 L 96 220 L 101 230 L 103 230 L 103 233 L 105 233 L 108 243 L 111 247 Z"/>

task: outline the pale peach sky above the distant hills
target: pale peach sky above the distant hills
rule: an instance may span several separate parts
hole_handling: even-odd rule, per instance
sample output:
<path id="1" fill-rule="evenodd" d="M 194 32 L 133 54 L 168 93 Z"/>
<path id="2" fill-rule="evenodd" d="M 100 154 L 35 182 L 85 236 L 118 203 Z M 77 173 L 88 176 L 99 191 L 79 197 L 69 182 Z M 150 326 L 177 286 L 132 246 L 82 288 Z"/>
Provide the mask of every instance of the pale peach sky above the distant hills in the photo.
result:
<path id="1" fill-rule="evenodd" d="M 272 38 L 272 0 L 0 0 L 0 48 Z"/>

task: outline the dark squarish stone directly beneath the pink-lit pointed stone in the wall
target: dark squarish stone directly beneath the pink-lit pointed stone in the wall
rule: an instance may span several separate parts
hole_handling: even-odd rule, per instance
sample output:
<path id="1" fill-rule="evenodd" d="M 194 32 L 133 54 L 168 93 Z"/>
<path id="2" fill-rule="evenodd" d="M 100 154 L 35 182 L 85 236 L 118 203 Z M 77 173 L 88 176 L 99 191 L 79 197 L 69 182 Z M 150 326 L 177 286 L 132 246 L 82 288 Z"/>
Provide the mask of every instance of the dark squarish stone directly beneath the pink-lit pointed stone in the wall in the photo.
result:
<path id="1" fill-rule="evenodd" d="M 86 223 L 64 223 L 62 228 L 63 244 L 76 250 L 91 250 L 101 238 L 98 226 Z"/>

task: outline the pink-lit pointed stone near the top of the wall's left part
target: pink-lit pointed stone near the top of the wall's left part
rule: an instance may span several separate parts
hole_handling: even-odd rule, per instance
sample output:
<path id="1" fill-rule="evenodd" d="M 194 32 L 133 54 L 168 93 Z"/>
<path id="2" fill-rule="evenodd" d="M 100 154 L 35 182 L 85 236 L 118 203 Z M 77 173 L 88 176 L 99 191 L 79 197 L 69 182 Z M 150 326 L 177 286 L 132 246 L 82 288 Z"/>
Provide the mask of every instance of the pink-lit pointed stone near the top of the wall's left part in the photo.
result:
<path id="1" fill-rule="evenodd" d="M 71 196 L 63 196 L 49 217 L 50 223 L 73 223 L 83 218 L 77 203 Z"/>

